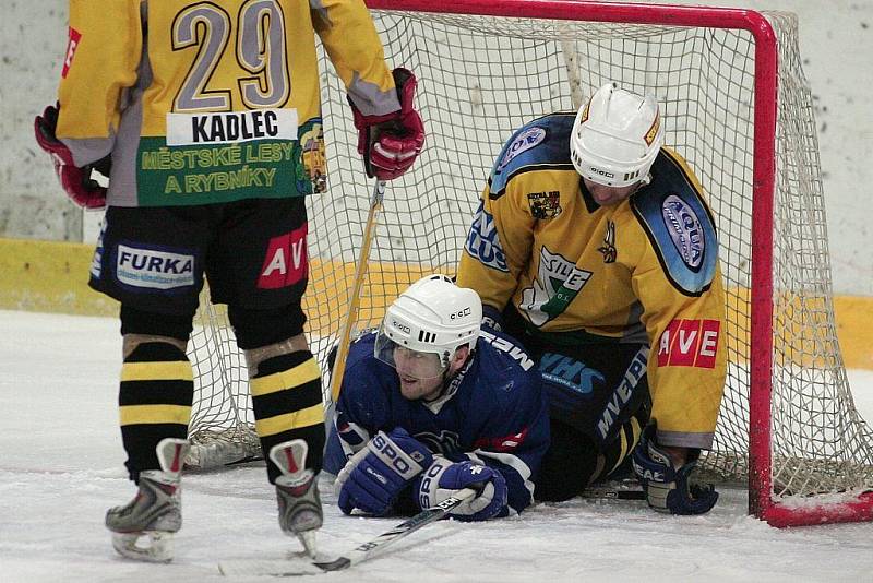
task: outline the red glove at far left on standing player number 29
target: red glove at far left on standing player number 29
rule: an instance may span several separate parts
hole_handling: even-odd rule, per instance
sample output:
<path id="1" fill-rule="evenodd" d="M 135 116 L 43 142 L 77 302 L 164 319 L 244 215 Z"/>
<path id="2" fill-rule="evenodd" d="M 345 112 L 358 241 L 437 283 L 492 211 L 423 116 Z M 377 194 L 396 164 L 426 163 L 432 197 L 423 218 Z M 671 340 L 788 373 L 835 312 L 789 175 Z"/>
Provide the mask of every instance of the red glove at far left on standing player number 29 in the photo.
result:
<path id="1" fill-rule="evenodd" d="M 58 107 L 50 105 L 34 120 L 36 143 L 51 156 L 61 187 L 74 203 L 88 210 L 103 209 L 106 206 L 106 189 L 92 180 L 91 171 L 96 168 L 104 176 L 109 176 L 111 157 L 106 156 L 94 164 L 77 167 L 73 164 L 70 148 L 55 134 L 57 127 Z"/>

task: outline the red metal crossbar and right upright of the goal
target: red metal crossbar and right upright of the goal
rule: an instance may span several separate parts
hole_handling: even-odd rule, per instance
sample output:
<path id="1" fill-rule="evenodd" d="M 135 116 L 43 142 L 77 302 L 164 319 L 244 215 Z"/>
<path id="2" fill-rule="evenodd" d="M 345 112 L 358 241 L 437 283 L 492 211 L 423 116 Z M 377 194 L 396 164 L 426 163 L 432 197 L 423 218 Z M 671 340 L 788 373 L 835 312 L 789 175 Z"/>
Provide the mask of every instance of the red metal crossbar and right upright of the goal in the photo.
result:
<path id="1" fill-rule="evenodd" d="M 773 368 L 773 201 L 776 181 L 777 39 L 770 23 L 753 10 L 560 0 L 459 0 L 434 7 L 429 0 L 368 0 L 371 10 L 451 12 L 480 16 L 550 19 L 694 26 L 749 31 L 754 37 L 754 162 L 752 163 L 752 253 L 749 509 L 767 519 L 774 505 L 770 485 L 770 393 Z M 870 511 L 873 512 L 873 511 Z M 813 517 L 815 522 L 817 519 Z"/>

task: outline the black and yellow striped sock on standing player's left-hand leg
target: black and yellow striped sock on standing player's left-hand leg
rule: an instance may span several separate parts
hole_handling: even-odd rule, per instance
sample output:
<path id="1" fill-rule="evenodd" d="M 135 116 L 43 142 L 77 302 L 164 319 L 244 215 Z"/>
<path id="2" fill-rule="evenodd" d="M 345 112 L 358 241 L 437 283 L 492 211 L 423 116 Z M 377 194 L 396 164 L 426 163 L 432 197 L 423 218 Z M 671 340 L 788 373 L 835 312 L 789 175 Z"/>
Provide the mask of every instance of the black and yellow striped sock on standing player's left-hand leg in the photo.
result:
<path id="1" fill-rule="evenodd" d="M 132 480 L 145 469 L 160 469 L 155 448 L 162 439 L 188 438 L 193 397 L 191 362 L 176 346 L 141 344 L 124 359 L 118 405 Z"/>

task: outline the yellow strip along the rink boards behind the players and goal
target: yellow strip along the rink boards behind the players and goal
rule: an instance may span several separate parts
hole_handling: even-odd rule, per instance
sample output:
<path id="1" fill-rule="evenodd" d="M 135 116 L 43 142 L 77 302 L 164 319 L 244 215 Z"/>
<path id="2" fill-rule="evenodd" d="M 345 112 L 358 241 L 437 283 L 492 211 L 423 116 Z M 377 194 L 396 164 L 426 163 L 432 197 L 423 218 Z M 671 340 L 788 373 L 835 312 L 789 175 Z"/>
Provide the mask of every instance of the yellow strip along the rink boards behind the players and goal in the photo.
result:
<path id="1" fill-rule="evenodd" d="M 61 312 L 88 316 L 116 316 L 118 302 L 87 286 L 94 247 L 91 245 L 0 238 L 0 309 Z M 374 264 L 370 266 L 370 285 L 381 289 L 383 297 L 394 298 L 409 282 L 427 272 L 423 266 Z M 346 289 L 355 274 L 350 263 L 321 262 L 310 264 L 310 286 L 304 309 L 313 330 L 335 334 L 342 321 L 340 306 L 348 301 Z M 728 290 L 728 310 L 743 309 L 748 290 Z M 837 336 L 844 361 L 849 368 L 873 370 L 873 333 L 866 320 L 873 314 L 873 297 L 837 296 L 833 299 Z M 374 304 L 367 294 L 360 306 L 360 320 L 375 323 L 383 313 L 383 302 Z M 821 321 L 828 312 L 821 298 L 777 297 L 777 326 L 791 322 L 791 313 L 806 312 L 808 321 Z M 780 316 L 781 314 L 781 316 Z M 798 326 L 798 324 L 788 324 Z M 2 329 L 2 322 L 0 322 Z M 797 330 L 794 330 L 797 332 Z M 748 331 L 731 334 L 740 343 Z M 804 340 L 804 346 L 788 347 L 789 358 L 809 364 L 809 345 L 827 349 L 827 342 Z M 777 346 L 777 348 L 786 348 Z M 799 355 L 797 357 L 791 355 Z"/>

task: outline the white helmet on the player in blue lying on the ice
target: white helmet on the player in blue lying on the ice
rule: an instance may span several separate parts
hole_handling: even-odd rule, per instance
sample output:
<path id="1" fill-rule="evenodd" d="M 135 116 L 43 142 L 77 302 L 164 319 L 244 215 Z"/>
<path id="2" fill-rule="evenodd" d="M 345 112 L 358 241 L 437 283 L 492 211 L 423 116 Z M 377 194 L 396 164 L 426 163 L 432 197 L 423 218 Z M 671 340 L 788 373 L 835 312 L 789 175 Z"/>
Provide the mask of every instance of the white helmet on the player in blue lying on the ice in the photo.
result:
<path id="1" fill-rule="evenodd" d="M 374 356 L 395 367 L 396 347 L 434 354 L 439 359 L 433 377 L 438 377 L 456 349 L 476 346 L 481 321 L 482 301 L 476 291 L 456 286 L 445 275 L 428 275 L 388 307 L 376 333 Z"/>

